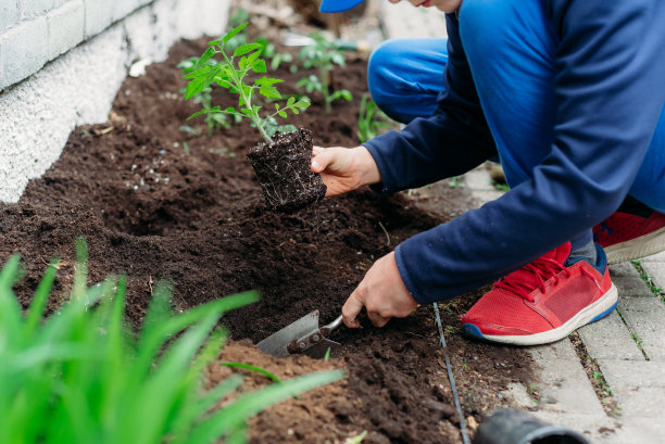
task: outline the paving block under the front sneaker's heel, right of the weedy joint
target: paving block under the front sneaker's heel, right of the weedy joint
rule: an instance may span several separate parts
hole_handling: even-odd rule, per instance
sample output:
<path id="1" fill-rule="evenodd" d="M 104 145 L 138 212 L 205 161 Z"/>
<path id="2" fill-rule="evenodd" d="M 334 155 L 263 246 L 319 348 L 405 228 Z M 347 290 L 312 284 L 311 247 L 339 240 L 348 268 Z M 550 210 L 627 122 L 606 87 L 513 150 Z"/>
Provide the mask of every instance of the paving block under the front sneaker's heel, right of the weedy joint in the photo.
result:
<path id="1" fill-rule="evenodd" d="M 644 360 L 644 355 L 616 310 L 577 332 L 592 358 Z"/>

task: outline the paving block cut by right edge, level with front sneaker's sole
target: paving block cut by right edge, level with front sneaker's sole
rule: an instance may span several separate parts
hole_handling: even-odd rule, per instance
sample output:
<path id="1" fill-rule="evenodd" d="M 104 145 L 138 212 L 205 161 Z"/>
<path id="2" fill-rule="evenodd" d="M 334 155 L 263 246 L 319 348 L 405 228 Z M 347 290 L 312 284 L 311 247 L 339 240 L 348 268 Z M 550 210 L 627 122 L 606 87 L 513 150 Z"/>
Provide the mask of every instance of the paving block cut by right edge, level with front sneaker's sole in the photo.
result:
<path id="1" fill-rule="evenodd" d="M 665 361 L 665 306 L 657 297 L 622 297 L 618 310 L 647 356 Z"/>

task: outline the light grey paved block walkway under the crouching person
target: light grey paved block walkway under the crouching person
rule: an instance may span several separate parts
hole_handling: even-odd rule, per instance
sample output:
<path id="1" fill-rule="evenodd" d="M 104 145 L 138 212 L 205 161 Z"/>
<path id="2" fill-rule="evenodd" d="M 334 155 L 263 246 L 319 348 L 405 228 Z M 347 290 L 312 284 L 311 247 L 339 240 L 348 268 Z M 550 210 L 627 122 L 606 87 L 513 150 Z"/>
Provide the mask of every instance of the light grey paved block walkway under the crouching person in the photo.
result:
<path id="1" fill-rule="evenodd" d="M 387 1 L 378 8 L 388 37 L 446 36 L 443 14 L 434 9 Z M 465 175 L 464 181 L 479 202 L 501 195 L 485 168 Z M 568 339 L 530 350 L 540 367 L 534 381 L 540 401 L 534 403 L 528 388 L 515 385 L 511 394 L 517 404 L 550 423 L 584 433 L 595 444 L 665 443 L 661 410 L 665 405 L 665 304 L 645 281 L 665 289 L 665 254 L 647 257 L 639 266 L 640 271 L 631 263 L 611 267 L 619 291 L 617 309 L 578 330 L 618 404 L 618 416 L 605 414 Z"/>

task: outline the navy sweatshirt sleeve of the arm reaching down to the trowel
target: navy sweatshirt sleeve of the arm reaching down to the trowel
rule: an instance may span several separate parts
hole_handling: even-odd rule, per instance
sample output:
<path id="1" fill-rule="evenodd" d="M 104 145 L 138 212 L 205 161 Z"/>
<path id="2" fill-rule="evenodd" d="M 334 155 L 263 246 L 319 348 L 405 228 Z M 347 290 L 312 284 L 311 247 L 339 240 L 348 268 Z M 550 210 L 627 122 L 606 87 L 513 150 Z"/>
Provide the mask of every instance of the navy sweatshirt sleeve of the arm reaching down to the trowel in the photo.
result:
<path id="1" fill-rule="evenodd" d="M 665 101 L 665 2 L 545 3 L 560 35 L 551 153 L 502 198 L 398 245 L 419 303 L 477 289 L 600 223 L 644 158 Z"/>

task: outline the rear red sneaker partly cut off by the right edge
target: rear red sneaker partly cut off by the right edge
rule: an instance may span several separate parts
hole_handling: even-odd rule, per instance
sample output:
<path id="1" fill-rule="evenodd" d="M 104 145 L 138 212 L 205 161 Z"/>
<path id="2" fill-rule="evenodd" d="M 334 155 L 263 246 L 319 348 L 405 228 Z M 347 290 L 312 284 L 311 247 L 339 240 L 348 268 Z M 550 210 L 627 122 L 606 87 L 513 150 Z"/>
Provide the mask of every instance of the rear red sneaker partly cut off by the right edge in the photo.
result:
<path id="1" fill-rule="evenodd" d="M 642 217 L 616 212 L 593 227 L 593 240 L 605 249 L 608 264 L 660 253 L 665 251 L 665 214 Z"/>

